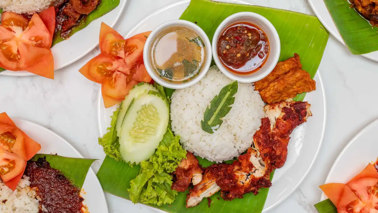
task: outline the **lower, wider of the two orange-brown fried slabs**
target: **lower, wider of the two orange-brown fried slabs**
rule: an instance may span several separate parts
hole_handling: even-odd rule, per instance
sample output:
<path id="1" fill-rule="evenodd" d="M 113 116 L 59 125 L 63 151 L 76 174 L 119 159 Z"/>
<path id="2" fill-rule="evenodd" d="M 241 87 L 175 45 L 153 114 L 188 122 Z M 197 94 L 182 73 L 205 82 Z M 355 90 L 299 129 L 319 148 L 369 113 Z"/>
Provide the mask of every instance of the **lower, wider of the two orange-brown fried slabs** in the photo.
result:
<path id="1" fill-rule="evenodd" d="M 267 88 L 260 91 L 265 103 L 277 103 L 295 97 L 302 92 L 311 92 L 316 89 L 315 81 L 305 70 L 291 70 L 273 81 Z"/>

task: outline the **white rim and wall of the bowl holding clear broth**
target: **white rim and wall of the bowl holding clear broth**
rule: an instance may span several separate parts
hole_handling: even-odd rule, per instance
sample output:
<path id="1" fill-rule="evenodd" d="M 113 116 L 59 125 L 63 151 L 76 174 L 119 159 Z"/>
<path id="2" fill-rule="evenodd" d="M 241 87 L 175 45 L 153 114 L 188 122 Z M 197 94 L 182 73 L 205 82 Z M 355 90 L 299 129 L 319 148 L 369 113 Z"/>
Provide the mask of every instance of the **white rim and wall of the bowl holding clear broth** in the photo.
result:
<path id="1" fill-rule="evenodd" d="M 205 62 L 203 66 L 201 67 L 199 74 L 195 76 L 193 79 L 184 83 L 174 83 L 174 82 L 170 82 L 166 80 L 165 78 L 161 77 L 152 66 L 151 52 L 152 52 L 153 42 L 155 42 L 155 39 L 159 33 L 161 33 L 162 31 L 170 27 L 186 27 L 190 30 L 193 30 L 195 33 L 198 34 L 198 36 L 200 36 L 200 38 L 202 39 L 204 43 L 205 54 L 206 54 Z M 157 83 L 159 83 L 160 85 L 167 88 L 171 88 L 171 89 L 183 89 L 183 88 L 194 85 L 206 75 L 211 64 L 211 58 L 212 58 L 211 51 L 212 50 L 211 50 L 210 40 L 208 36 L 206 35 L 206 33 L 200 27 L 186 20 L 171 20 L 156 27 L 155 30 L 153 30 L 151 34 L 148 36 L 146 44 L 144 45 L 144 49 L 143 49 L 144 66 L 146 66 L 147 72 L 151 76 L 151 78 Z"/>

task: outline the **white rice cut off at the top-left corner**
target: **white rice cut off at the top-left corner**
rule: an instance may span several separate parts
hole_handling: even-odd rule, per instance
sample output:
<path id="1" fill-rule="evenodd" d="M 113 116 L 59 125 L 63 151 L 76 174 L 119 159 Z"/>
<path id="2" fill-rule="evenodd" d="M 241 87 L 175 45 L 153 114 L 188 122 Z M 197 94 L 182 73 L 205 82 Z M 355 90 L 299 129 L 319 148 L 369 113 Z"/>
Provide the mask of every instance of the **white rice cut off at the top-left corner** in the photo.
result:
<path id="1" fill-rule="evenodd" d="M 34 14 L 47 9 L 53 0 L 0 0 L 0 8 L 14 13 Z"/>

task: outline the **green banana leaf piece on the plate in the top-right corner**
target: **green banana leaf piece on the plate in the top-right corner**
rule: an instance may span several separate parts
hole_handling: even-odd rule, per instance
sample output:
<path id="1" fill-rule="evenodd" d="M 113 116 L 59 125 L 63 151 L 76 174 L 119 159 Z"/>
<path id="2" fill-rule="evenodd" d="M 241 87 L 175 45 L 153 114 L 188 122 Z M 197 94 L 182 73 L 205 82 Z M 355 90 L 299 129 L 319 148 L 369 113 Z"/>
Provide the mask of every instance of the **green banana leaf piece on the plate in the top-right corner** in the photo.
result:
<path id="1" fill-rule="evenodd" d="M 348 0 L 324 0 L 345 45 L 355 55 L 378 50 L 377 28 L 350 8 Z"/>

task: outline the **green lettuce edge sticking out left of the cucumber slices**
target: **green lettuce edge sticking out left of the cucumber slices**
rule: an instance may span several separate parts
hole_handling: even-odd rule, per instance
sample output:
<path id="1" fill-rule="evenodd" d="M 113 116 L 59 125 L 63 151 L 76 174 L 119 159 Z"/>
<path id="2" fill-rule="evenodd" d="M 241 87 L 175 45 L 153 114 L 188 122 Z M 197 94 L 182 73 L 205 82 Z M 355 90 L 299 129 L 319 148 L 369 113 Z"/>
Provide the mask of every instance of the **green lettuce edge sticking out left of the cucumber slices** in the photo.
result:
<path id="1" fill-rule="evenodd" d="M 114 111 L 113 115 L 110 116 L 112 117 L 112 121 L 110 122 L 110 127 L 107 128 L 108 132 L 102 136 L 102 138 L 98 138 L 98 143 L 104 148 L 106 155 L 116 161 L 124 161 L 121 157 L 121 153 L 119 152 L 119 142 L 116 130 L 119 108 L 121 107 L 118 107 L 118 109 Z"/>

